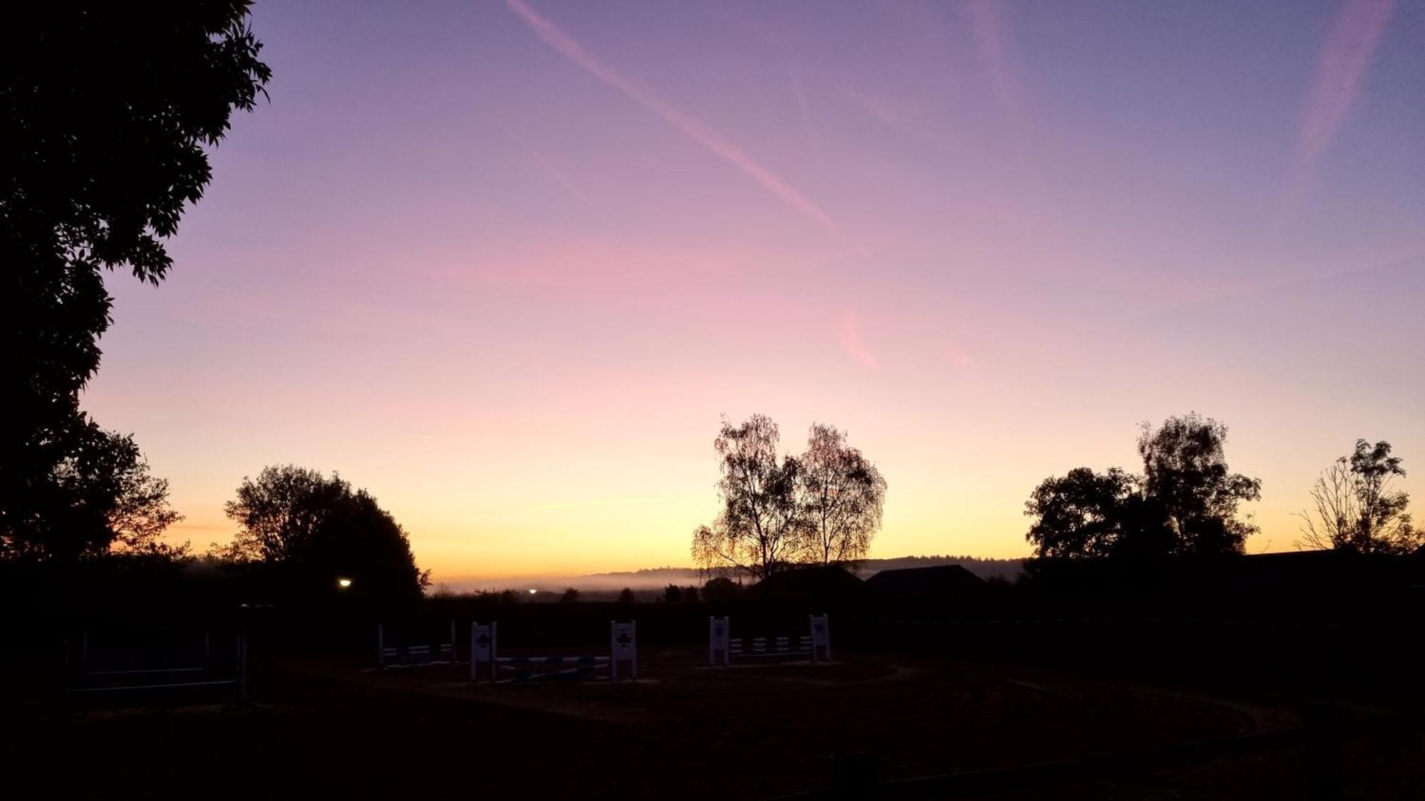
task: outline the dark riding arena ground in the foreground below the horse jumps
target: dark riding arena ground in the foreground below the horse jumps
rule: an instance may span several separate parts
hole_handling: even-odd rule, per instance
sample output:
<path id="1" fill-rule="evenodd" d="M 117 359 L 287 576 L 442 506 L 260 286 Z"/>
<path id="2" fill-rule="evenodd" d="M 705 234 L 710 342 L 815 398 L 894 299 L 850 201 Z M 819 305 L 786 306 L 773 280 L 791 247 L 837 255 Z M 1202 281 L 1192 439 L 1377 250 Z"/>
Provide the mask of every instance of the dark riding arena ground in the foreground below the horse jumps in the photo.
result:
<path id="1" fill-rule="evenodd" d="M 378 673 L 356 661 L 266 657 L 242 707 L 202 696 L 56 707 L 10 683 L 0 760 L 16 792 L 0 795 L 772 798 L 829 787 L 845 753 L 869 754 L 879 777 L 895 780 L 1301 723 L 1295 703 L 1270 691 L 1237 697 L 938 657 L 836 657 L 710 670 L 705 651 L 646 648 L 637 683 L 494 687 L 469 686 L 463 667 Z M 1418 728 L 1348 737 L 1341 764 L 1347 798 L 1425 798 Z M 989 782 L 953 797 L 1311 798 L 1308 767 L 1302 748 L 1282 747 Z"/>

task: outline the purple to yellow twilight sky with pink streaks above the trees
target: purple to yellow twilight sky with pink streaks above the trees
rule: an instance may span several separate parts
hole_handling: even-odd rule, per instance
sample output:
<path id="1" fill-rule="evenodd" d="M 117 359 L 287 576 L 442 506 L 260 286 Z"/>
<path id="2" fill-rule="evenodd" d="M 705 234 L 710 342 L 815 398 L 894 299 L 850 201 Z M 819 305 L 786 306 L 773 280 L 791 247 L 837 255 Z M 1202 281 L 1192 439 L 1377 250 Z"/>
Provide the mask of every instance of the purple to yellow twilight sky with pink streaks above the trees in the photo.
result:
<path id="1" fill-rule="evenodd" d="M 1023 556 L 1036 483 L 1230 426 L 1288 550 L 1388 439 L 1425 503 L 1425 3 L 259 1 L 84 406 L 204 550 L 368 487 L 435 580 L 688 564 L 720 415 L 829 422 L 872 556 Z"/>

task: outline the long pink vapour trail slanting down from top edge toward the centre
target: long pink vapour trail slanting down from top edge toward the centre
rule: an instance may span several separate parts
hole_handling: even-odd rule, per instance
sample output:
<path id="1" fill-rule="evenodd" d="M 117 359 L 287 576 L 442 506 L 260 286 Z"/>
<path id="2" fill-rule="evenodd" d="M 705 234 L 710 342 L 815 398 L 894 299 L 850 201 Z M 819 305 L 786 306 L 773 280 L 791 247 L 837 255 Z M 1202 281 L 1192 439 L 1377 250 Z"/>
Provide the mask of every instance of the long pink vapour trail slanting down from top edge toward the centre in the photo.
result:
<path id="1" fill-rule="evenodd" d="M 714 155 L 727 161 L 732 167 L 737 167 L 747 177 L 757 181 L 764 190 L 777 197 L 777 200 L 782 201 L 788 208 L 811 219 L 826 232 L 838 238 L 845 238 L 841 227 L 838 227 L 831 217 L 821 210 L 821 207 L 792 188 L 775 172 L 758 164 L 751 155 L 744 153 L 742 148 L 724 140 L 722 137 L 718 137 L 693 117 L 688 117 L 683 111 L 668 105 L 651 91 L 636 86 L 613 67 L 608 67 L 603 61 L 586 53 L 583 46 L 579 44 L 574 37 L 564 33 L 564 30 L 554 23 L 542 17 L 523 0 L 504 0 L 504 4 L 509 6 L 510 10 L 514 11 L 522 20 L 524 20 L 524 23 L 544 44 L 550 46 L 567 61 L 583 68 L 586 73 L 598 78 L 604 84 L 621 91 L 638 105 L 643 105 L 648 111 L 657 114 L 664 123 L 673 125 L 683 135 L 712 151 Z"/>

